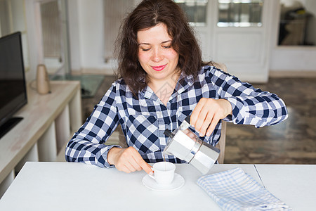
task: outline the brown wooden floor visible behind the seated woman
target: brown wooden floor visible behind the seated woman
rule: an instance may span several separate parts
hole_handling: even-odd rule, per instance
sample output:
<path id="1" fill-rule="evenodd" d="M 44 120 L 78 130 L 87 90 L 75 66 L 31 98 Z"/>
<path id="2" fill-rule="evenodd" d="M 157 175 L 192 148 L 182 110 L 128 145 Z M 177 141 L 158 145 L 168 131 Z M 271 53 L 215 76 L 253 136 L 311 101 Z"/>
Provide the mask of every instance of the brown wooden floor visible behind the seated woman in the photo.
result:
<path id="1" fill-rule="evenodd" d="M 105 77 L 93 98 L 82 99 L 85 117 L 112 82 L 114 77 Z M 289 118 L 263 128 L 228 123 L 225 163 L 316 164 L 316 78 L 278 77 L 253 85 L 281 97 Z"/>

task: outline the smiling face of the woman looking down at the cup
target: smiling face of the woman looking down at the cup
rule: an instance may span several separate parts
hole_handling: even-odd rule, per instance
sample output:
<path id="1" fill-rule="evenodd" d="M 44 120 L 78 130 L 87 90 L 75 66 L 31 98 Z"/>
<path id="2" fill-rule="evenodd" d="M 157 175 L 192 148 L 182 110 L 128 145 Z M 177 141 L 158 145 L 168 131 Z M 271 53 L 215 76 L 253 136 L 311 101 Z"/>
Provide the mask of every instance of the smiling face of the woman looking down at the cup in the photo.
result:
<path id="1" fill-rule="evenodd" d="M 171 46 L 166 25 L 160 23 L 137 32 L 138 60 L 150 82 L 171 79 L 176 73 L 179 54 Z"/>

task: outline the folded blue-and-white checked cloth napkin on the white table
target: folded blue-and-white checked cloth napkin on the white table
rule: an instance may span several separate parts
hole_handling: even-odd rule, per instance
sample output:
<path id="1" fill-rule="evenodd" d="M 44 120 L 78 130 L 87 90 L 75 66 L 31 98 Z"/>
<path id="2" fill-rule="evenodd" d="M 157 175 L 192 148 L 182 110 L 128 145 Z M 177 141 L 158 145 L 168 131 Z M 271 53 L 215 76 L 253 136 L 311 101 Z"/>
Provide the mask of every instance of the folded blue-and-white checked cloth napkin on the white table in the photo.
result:
<path id="1" fill-rule="evenodd" d="M 291 210 L 240 168 L 204 175 L 197 184 L 223 210 Z"/>

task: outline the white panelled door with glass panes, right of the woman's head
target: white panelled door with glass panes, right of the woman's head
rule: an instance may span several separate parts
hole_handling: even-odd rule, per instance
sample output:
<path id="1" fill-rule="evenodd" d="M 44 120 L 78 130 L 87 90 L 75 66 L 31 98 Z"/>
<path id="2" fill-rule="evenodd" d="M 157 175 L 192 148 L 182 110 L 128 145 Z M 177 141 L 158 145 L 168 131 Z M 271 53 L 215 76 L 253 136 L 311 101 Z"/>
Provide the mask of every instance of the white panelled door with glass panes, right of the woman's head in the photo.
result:
<path id="1" fill-rule="evenodd" d="M 261 23 L 250 24 L 249 27 L 232 26 L 247 25 L 247 23 L 228 23 L 226 25 L 231 26 L 218 26 L 218 6 L 220 2 L 227 3 L 230 1 L 209 0 L 206 25 L 195 27 L 201 41 L 204 60 L 225 63 L 228 72 L 244 82 L 267 82 L 272 46 L 271 37 L 276 36 L 276 34 L 271 34 L 272 16 L 274 16 L 272 14 L 277 12 L 275 10 L 277 1 L 264 0 L 260 4 L 262 6 L 261 18 L 259 17 Z M 246 4 L 245 2 L 249 1 L 234 0 L 231 2 Z M 258 1 L 256 2 L 258 3 Z M 242 16 L 242 13 L 240 15 L 240 13 L 239 11 L 239 18 L 247 18 Z M 225 23 L 222 23 L 222 25 L 225 25 Z"/>

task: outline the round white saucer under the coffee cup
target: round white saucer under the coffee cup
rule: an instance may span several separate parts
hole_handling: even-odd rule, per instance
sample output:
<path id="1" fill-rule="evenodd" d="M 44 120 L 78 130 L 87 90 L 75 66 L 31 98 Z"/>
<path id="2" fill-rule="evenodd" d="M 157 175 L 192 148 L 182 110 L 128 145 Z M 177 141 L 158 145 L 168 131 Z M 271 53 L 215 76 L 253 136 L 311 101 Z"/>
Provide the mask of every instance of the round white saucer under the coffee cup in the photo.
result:
<path id="1" fill-rule="evenodd" d="M 180 175 L 175 173 L 174 178 L 171 184 L 169 185 L 159 185 L 157 182 L 152 179 L 148 174 L 145 175 L 143 178 L 143 184 L 147 188 L 150 188 L 153 191 L 175 191 L 178 188 L 181 188 L 185 184 L 184 178 Z"/>

